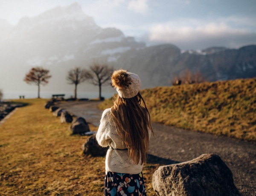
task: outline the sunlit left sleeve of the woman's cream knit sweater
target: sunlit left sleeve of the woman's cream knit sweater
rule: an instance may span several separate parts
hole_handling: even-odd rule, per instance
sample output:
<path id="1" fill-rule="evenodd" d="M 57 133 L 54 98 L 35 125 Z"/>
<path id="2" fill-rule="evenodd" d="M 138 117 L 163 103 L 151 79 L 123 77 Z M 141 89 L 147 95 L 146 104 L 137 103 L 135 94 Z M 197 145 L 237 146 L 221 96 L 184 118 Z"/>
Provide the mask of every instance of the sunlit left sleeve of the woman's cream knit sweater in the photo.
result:
<path id="1" fill-rule="evenodd" d="M 102 113 L 102 118 L 100 120 L 100 125 L 98 132 L 96 134 L 96 139 L 99 143 L 100 146 L 102 147 L 107 147 L 108 144 L 111 142 L 111 138 L 109 135 L 109 129 L 108 129 L 108 124 L 109 124 L 109 115 L 110 115 L 110 108 L 104 110 Z"/>

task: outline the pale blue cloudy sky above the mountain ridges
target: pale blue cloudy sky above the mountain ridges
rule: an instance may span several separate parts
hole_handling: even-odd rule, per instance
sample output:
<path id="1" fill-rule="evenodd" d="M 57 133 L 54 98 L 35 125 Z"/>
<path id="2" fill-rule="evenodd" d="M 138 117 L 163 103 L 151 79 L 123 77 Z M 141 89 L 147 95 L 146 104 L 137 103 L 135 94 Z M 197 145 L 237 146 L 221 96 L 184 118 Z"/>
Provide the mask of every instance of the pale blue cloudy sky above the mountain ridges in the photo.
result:
<path id="1" fill-rule="evenodd" d="M 148 45 L 180 49 L 256 44 L 256 0 L 0 0 L 0 19 L 17 25 L 77 2 L 102 28 L 115 27 Z"/>

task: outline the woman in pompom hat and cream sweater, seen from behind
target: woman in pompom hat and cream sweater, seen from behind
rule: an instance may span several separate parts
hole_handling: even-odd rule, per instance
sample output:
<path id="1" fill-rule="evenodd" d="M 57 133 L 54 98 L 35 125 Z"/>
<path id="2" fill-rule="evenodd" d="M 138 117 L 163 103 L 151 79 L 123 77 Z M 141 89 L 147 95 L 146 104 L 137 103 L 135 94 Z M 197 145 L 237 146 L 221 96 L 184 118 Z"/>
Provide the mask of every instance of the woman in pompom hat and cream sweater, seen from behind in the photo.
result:
<path id="1" fill-rule="evenodd" d="M 141 81 L 138 75 L 120 69 L 113 72 L 111 85 L 118 96 L 113 107 L 102 113 L 96 134 L 100 146 L 109 146 L 105 196 L 146 196 L 142 168 L 153 130 L 140 95 Z"/>

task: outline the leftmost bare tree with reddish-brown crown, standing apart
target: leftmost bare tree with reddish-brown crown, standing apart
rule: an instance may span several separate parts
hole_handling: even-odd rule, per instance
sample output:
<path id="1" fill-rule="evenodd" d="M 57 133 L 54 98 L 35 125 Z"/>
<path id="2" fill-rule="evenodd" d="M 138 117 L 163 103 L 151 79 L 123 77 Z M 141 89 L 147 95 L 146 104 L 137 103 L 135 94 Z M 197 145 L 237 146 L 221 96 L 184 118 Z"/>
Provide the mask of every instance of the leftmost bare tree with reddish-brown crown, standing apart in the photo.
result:
<path id="1" fill-rule="evenodd" d="M 27 84 L 35 84 L 38 86 L 38 98 L 40 98 L 40 84 L 46 85 L 48 79 L 52 76 L 49 75 L 48 69 L 43 69 L 42 67 L 33 67 L 30 69 L 29 73 L 26 74 L 24 81 Z"/>

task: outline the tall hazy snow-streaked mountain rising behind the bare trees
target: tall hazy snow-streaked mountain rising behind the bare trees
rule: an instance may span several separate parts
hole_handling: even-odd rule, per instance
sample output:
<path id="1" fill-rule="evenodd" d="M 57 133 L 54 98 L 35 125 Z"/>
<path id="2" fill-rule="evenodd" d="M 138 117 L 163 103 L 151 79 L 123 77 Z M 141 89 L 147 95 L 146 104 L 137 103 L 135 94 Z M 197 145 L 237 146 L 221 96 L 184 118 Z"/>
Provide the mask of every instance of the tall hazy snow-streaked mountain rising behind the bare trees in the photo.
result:
<path id="1" fill-rule="evenodd" d="M 33 66 L 43 66 L 52 74 L 49 82 L 54 87 L 47 85 L 42 90 L 73 91 L 65 79 L 68 70 L 88 68 L 93 61 L 116 61 L 125 51 L 145 47 L 145 43 L 125 37 L 119 29 L 97 26 L 77 3 L 37 17 L 23 17 L 11 28 L 1 27 L 5 36 L 0 37 L 0 89 L 6 91 L 31 89 L 23 78 Z"/>

